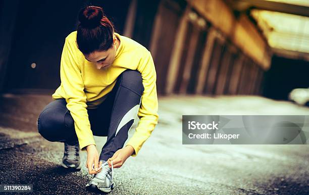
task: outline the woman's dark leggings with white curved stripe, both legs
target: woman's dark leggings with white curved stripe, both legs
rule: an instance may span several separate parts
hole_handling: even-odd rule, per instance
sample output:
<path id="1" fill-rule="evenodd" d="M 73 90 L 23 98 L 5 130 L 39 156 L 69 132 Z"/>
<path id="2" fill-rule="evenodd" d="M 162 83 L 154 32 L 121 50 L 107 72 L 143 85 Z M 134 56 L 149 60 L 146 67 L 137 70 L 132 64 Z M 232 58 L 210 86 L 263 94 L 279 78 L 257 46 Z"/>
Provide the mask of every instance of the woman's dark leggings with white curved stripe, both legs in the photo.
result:
<path id="1" fill-rule="evenodd" d="M 107 161 L 123 148 L 133 118 L 137 115 L 143 90 L 141 74 L 127 69 L 119 75 L 107 99 L 96 109 L 87 109 L 93 135 L 108 136 L 100 160 Z M 65 99 L 55 100 L 39 115 L 38 132 L 45 139 L 59 142 L 77 140 L 74 120 L 66 105 Z"/>

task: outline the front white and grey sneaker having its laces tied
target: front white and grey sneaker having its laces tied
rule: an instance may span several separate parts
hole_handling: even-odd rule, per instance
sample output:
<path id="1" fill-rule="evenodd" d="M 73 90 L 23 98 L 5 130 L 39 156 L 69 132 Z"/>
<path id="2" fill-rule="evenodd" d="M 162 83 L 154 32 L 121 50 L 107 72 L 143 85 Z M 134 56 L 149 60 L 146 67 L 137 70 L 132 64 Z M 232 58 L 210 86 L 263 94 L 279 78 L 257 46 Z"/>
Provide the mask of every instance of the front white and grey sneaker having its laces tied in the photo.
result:
<path id="1" fill-rule="evenodd" d="M 92 165 L 92 169 L 94 170 L 94 164 Z M 115 187 L 115 183 L 113 181 L 113 161 L 112 168 L 109 167 L 108 162 L 105 162 L 99 167 L 99 169 L 102 170 L 99 173 L 94 174 L 92 179 L 86 184 L 86 188 L 91 191 L 99 189 L 100 191 L 109 193 Z"/>

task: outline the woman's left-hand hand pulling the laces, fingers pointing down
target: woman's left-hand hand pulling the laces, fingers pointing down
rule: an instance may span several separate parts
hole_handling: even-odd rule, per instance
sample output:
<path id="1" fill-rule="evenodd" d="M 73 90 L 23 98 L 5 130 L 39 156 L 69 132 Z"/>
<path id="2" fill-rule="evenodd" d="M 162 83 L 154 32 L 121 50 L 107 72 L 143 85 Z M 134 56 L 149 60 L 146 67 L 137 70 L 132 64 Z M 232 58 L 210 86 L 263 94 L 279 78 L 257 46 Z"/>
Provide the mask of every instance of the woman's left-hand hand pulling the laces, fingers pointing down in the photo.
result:
<path id="1" fill-rule="evenodd" d="M 98 170 L 98 166 L 102 164 L 102 162 L 99 163 L 99 154 L 95 148 L 95 145 L 87 145 L 86 147 L 87 151 L 87 162 L 86 162 L 86 167 L 88 168 L 89 174 L 96 174 L 101 171 Z M 92 164 L 94 164 L 94 169 L 92 170 Z"/>

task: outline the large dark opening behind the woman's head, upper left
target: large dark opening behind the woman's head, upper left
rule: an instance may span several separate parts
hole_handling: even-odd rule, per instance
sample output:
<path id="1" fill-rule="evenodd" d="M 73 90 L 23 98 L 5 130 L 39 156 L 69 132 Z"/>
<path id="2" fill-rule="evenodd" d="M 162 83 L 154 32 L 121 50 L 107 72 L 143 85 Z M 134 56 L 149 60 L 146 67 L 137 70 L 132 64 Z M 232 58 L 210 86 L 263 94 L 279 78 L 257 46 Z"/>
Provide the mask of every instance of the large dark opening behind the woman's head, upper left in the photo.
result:
<path id="1" fill-rule="evenodd" d="M 104 1 L 105 2 L 105 1 Z M 103 7 L 122 33 L 128 6 L 115 10 L 103 1 L 20 1 L 4 92 L 43 92 L 60 85 L 60 59 L 65 37 L 77 28 L 81 8 Z M 130 1 L 124 1 L 129 5 Z M 9 9 L 9 8 L 8 8 Z M 110 16 L 109 16 L 110 15 Z"/>

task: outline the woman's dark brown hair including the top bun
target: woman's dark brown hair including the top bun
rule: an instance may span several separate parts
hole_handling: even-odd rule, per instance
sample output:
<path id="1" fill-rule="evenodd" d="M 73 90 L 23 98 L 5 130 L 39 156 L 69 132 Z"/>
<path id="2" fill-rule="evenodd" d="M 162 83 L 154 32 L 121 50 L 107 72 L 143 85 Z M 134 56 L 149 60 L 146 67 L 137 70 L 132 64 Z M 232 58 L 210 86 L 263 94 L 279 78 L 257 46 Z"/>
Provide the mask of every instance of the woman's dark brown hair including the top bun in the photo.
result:
<path id="1" fill-rule="evenodd" d="M 104 16 L 102 8 L 88 6 L 79 12 L 78 19 L 76 42 L 83 54 L 106 51 L 111 48 L 114 26 Z"/>

